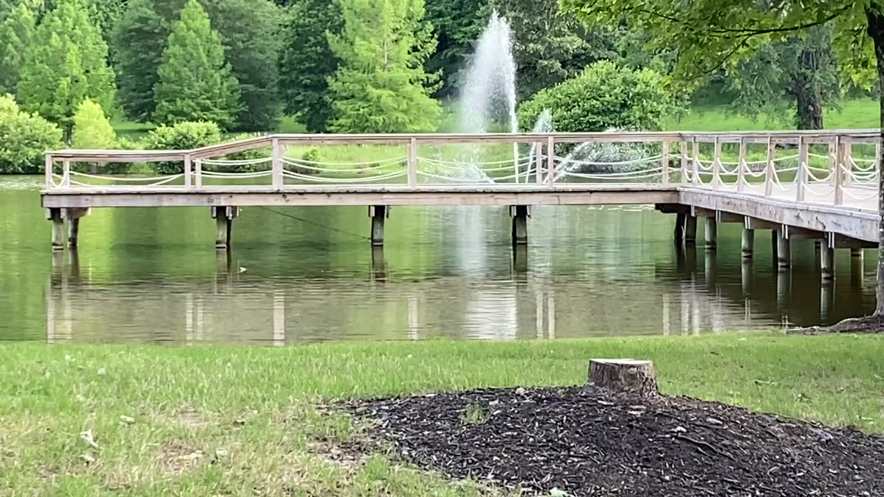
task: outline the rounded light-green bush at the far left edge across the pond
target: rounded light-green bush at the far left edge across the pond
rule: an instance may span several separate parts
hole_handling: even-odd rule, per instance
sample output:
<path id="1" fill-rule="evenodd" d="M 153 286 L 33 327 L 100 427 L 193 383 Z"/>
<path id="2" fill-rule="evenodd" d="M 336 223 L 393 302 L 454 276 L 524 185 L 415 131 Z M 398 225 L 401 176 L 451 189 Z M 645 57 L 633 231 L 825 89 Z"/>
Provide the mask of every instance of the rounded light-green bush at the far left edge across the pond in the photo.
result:
<path id="1" fill-rule="evenodd" d="M 43 154 L 60 146 L 58 126 L 35 114 L 19 111 L 11 95 L 0 96 L 0 172 L 42 172 Z"/>

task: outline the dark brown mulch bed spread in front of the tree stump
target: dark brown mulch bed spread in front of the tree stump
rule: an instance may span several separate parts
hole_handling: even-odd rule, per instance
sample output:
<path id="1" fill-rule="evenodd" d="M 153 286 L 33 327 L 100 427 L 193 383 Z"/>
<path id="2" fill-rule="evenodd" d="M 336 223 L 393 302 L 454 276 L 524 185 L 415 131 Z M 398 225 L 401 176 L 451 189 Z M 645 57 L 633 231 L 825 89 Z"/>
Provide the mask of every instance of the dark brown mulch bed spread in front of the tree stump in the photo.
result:
<path id="1" fill-rule="evenodd" d="M 695 399 L 572 387 L 348 407 L 410 463 L 530 493 L 884 495 L 884 437 Z"/>

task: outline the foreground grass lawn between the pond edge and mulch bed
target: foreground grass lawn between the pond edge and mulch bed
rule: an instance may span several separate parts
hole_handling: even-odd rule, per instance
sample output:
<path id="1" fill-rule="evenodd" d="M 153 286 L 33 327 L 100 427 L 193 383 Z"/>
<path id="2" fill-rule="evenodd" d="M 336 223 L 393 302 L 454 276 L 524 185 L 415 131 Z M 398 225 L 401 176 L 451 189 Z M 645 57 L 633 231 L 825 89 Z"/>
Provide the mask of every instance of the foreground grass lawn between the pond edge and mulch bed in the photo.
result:
<path id="1" fill-rule="evenodd" d="M 316 403 L 582 384 L 592 357 L 652 359 L 667 394 L 884 432 L 884 337 L 331 343 L 291 348 L 0 345 L 2 495 L 478 495 L 386 455 Z M 80 433 L 91 431 L 97 447 Z"/>

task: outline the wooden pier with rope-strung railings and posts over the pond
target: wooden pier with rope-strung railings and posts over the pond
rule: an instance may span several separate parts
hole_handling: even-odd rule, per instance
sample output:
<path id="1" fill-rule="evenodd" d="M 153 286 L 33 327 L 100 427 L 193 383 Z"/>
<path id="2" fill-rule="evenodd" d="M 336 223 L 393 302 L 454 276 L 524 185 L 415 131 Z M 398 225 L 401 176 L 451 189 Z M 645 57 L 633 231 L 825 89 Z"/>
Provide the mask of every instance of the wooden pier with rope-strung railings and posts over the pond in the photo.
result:
<path id="1" fill-rule="evenodd" d="M 522 148 L 518 155 L 513 144 Z M 333 163 L 298 151 L 339 146 L 388 157 Z M 182 206 L 210 207 L 216 246 L 225 248 L 240 209 L 252 206 L 364 205 L 372 243 L 382 245 L 390 206 L 509 206 L 514 244 L 524 244 L 531 206 L 655 204 L 674 214 L 674 236 L 686 244 L 705 218 L 710 250 L 719 223 L 743 226 L 747 258 L 755 230 L 772 230 L 784 268 L 790 240 L 818 239 L 826 278 L 835 248 L 877 246 L 880 146 L 878 130 L 275 134 L 190 150 L 52 151 L 42 206 L 54 248 L 64 247 L 65 222 L 68 242 L 78 243 L 80 219 L 92 208 Z M 582 153 L 572 155 L 575 149 Z M 231 157 L 247 151 L 256 158 Z M 102 164 L 161 162 L 177 169 L 151 177 L 101 173 Z"/>

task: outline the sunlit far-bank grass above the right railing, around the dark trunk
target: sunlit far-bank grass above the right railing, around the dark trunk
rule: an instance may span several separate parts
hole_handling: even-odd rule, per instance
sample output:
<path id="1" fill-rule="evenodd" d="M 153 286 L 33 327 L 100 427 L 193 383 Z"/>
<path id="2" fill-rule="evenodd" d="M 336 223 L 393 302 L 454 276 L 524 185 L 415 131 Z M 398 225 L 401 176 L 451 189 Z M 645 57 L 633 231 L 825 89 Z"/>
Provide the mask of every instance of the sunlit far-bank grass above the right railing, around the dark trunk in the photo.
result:
<path id="1" fill-rule="evenodd" d="M 824 112 L 823 123 L 828 129 L 864 129 L 880 126 L 880 107 L 877 100 L 854 98 L 841 103 L 841 109 Z M 670 131 L 765 131 L 794 129 L 791 116 L 760 115 L 756 119 L 730 110 L 728 105 L 697 106 L 681 119 L 673 119 L 664 126 Z"/>

